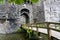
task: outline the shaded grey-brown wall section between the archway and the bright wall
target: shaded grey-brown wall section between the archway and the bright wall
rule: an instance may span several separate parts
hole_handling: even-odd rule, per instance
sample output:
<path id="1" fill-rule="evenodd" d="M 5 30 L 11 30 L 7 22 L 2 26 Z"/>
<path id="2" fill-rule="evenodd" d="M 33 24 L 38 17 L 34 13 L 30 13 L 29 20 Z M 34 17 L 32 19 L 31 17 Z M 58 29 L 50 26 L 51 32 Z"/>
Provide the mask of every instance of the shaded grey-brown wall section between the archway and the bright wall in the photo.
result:
<path id="1" fill-rule="evenodd" d="M 43 1 L 39 0 L 37 4 L 33 5 L 33 18 L 37 23 L 45 21 Z"/>

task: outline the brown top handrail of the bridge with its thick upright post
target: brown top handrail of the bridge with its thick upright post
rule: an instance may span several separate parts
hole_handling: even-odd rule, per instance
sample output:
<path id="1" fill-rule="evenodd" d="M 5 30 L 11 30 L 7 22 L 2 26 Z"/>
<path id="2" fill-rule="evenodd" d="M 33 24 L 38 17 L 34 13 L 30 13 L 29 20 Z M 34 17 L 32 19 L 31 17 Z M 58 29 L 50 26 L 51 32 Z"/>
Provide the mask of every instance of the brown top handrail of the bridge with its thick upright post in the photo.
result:
<path id="1" fill-rule="evenodd" d="M 30 27 L 37 27 L 37 28 L 39 28 L 37 25 L 40 25 L 40 24 L 46 24 L 46 28 L 47 28 L 47 32 L 48 32 L 48 40 L 51 40 L 51 33 L 50 33 L 50 24 L 58 24 L 58 25 L 60 25 L 60 22 L 40 22 L 40 23 L 32 23 L 32 24 L 26 24 L 26 26 L 30 26 Z M 38 29 L 37 29 L 37 31 L 38 31 Z"/>

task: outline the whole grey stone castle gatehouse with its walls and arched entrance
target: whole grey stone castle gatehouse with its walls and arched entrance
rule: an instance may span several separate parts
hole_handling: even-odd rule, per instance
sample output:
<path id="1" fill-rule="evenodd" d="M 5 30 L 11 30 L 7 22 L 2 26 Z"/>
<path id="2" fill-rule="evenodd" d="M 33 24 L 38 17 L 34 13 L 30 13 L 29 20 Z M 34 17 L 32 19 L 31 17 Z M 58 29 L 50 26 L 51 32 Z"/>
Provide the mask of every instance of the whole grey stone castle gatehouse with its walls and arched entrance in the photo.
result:
<path id="1" fill-rule="evenodd" d="M 34 22 L 60 22 L 60 1 L 39 0 L 36 4 L 0 4 L 0 33 L 12 33 L 21 24 Z M 55 7 L 54 7 L 55 6 Z"/>

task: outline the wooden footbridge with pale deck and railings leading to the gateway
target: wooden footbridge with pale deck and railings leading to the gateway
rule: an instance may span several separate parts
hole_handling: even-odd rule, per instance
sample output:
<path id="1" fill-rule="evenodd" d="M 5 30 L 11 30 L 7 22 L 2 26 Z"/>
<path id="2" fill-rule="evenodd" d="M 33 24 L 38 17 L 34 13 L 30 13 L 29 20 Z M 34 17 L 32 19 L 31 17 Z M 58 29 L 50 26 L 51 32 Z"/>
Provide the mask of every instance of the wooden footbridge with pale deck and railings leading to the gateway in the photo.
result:
<path id="1" fill-rule="evenodd" d="M 32 24 L 23 24 L 22 27 L 27 30 L 34 30 L 48 35 L 48 40 L 51 36 L 60 40 L 60 23 L 59 22 L 40 22 Z"/>

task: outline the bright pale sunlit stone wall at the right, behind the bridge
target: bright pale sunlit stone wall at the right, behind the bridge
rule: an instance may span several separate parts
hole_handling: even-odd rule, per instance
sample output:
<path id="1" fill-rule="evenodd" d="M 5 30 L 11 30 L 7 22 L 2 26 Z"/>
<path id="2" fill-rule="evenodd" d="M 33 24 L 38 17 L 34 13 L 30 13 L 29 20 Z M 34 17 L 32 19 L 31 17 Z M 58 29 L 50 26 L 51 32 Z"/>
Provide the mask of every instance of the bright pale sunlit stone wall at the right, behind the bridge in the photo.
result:
<path id="1" fill-rule="evenodd" d="M 60 1 L 46 0 L 44 2 L 45 21 L 60 22 Z"/>

